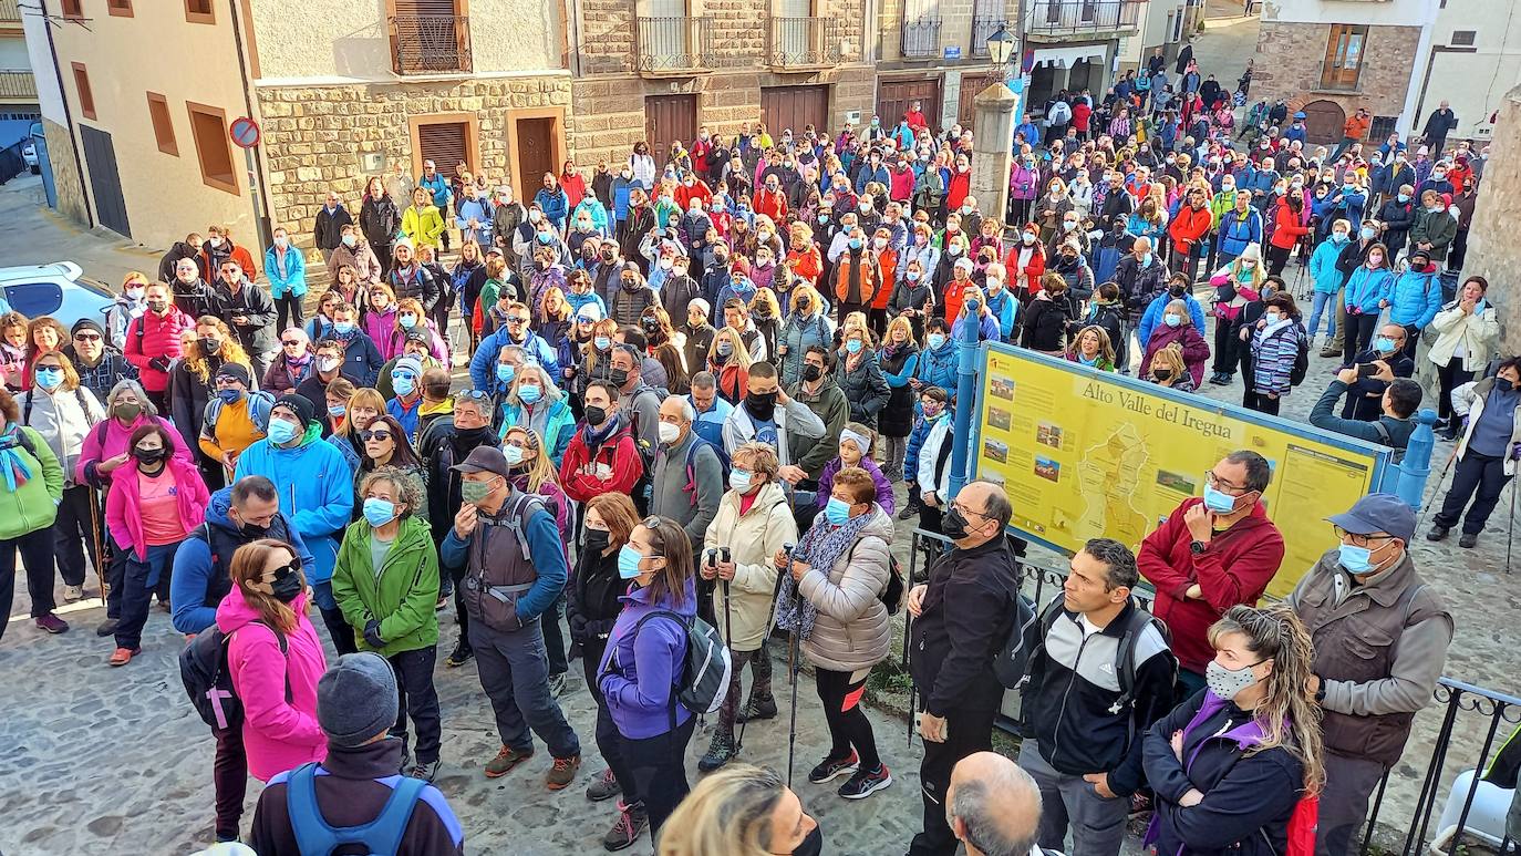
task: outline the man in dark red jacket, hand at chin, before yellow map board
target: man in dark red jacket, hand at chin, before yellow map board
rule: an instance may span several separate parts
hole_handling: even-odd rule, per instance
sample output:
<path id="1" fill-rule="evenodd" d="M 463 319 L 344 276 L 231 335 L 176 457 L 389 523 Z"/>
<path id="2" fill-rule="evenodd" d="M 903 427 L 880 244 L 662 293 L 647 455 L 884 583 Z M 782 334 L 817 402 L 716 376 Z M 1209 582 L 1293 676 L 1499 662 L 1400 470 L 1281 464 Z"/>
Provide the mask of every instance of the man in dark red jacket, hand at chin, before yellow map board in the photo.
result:
<path id="1" fill-rule="evenodd" d="M 1153 611 L 1173 632 L 1177 683 L 1205 687 L 1215 658 L 1209 625 L 1237 604 L 1252 607 L 1284 561 L 1284 535 L 1267 518 L 1262 491 L 1273 471 L 1256 452 L 1232 452 L 1189 497 L 1141 541 L 1136 564 L 1156 587 Z"/>

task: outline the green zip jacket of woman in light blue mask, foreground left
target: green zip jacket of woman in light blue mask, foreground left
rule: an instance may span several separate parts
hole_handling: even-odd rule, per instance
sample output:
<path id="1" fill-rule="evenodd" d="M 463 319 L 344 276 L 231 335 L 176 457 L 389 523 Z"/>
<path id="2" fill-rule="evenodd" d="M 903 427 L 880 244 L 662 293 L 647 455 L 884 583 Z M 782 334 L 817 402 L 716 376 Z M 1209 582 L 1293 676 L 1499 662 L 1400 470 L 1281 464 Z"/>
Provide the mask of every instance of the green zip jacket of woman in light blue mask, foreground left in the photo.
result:
<path id="1" fill-rule="evenodd" d="M 376 651 L 365 642 L 365 625 L 380 619 L 382 657 L 438 645 L 438 547 L 427 520 L 415 514 L 402 518 L 395 541 L 386 550 L 380 575 L 370 564 L 370 523 L 356 520 L 344 531 L 333 569 L 333 599 L 344 620 L 354 628 L 360 651 Z"/>

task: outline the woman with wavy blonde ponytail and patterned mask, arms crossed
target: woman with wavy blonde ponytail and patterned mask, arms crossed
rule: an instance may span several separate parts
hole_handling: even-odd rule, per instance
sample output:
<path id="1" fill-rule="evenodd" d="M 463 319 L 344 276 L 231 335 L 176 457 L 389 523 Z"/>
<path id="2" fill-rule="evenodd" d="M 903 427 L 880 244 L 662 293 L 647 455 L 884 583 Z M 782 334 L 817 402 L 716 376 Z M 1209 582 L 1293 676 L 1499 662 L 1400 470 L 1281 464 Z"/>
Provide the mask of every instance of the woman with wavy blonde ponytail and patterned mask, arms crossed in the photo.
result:
<path id="1" fill-rule="evenodd" d="M 1285 853 L 1299 803 L 1325 785 L 1314 646 L 1284 604 L 1230 607 L 1209 628 L 1208 687 L 1147 731 L 1156 853 Z"/>

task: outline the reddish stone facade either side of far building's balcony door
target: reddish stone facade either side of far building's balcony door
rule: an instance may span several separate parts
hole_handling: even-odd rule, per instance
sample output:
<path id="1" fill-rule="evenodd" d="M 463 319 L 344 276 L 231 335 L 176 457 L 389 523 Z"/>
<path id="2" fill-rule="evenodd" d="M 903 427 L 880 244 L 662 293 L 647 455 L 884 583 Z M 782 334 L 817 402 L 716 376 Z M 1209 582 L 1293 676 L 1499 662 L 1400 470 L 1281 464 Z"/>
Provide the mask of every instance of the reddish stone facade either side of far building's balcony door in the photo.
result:
<path id="1" fill-rule="evenodd" d="M 1322 90 L 1331 24 L 1300 24 L 1262 20 L 1256 36 L 1252 97 L 1284 99 L 1299 108 L 1313 100 L 1332 100 L 1351 116 L 1358 106 L 1373 116 L 1399 116 L 1410 87 L 1410 58 L 1416 55 L 1421 27 L 1373 26 L 1363 46 L 1363 71 L 1354 91 Z"/>

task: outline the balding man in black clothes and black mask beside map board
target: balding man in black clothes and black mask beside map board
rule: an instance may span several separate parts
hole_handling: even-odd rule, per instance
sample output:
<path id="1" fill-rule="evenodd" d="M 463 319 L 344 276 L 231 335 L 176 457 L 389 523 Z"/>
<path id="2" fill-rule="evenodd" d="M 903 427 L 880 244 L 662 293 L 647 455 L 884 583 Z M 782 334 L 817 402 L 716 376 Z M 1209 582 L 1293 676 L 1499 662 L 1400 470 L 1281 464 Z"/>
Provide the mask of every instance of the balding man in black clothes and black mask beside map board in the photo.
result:
<path id="1" fill-rule="evenodd" d="M 1018 613 L 1019 564 L 1004 535 L 1013 517 L 1008 496 L 987 480 L 967 483 L 946 511 L 941 531 L 955 543 L 929 570 L 929 582 L 908 593 L 910 672 L 920 693 L 925 760 L 925 829 L 910 856 L 951 856 L 957 838 L 946 826 L 946 788 L 955 763 L 993 747 L 993 718 L 1004 686 L 993 660 Z"/>

